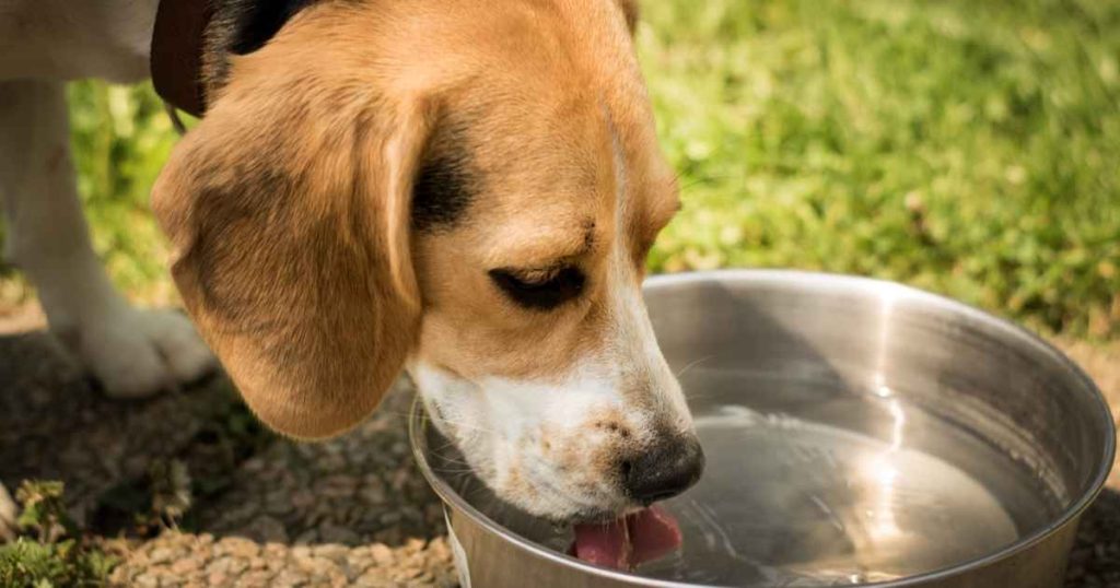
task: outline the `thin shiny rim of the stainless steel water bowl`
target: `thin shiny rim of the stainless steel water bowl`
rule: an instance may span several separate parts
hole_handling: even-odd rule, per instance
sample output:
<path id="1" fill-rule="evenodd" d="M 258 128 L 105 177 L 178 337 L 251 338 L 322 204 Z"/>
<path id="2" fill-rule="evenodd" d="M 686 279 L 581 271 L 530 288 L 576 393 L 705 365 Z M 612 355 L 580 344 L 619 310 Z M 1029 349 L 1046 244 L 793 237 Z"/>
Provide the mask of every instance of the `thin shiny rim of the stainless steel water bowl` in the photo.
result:
<path id="1" fill-rule="evenodd" d="M 920 288 L 914 288 L 912 286 L 906 286 L 898 282 L 880 280 L 876 278 L 867 278 L 862 276 L 851 276 L 843 273 L 829 273 L 829 272 L 816 272 L 816 271 L 804 271 L 804 270 L 783 270 L 783 269 L 724 269 L 724 270 L 706 270 L 706 271 L 692 271 L 692 272 L 680 272 L 680 273 L 662 273 L 656 276 L 651 276 L 643 283 L 643 292 L 648 289 L 657 289 L 670 286 L 680 286 L 689 283 L 719 283 L 728 281 L 750 281 L 755 284 L 764 283 L 790 283 L 793 282 L 813 282 L 815 284 L 827 284 L 832 287 L 848 287 L 858 288 L 865 291 L 878 291 L 879 295 L 893 295 L 897 297 L 906 297 L 911 300 L 921 300 L 925 304 L 932 304 L 941 310 L 958 312 L 964 315 L 965 317 L 984 323 L 989 326 L 998 327 L 1002 329 L 1007 336 L 1017 337 L 1023 343 L 1034 345 L 1043 353 L 1049 355 L 1057 361 L 1057 364 L 1066 370 L 1068 374 L 1073 377 L 1076 383 L 1080 383 L 1080 390 L 1077 393 L 1088 394 L 1088 399 L 1091 404 L 1095 404 L 1096 410 L 1094 414 L 1096 419 L 1102 421 L 1102 428 L 1104 430 L 1104 446 L 1102 447 L 1102 454 L 1100 455 L 1100 463 L 1098 465 L 1096 476 L 1093 478 L 1086 492 L 1083 492 L 1081 496 L 1073 501 L 1073 503 L 1065 507 L 1062 513 L 1055 517 L 1053 522 L 1046 526 L 1036 530 L 1029 535 L 1021 536 L 1012 543 L 1009 543 L 991 553 L 972 558 L 960 563 L 948 566 L 944 568 L 939 568 L 935 570 L 922 572 L 914 576 L 907 576 L 905 578 L 899 578 L 895 580 L 887 580 L 881 582 L 868 582 L 851 585 L 852 588 L 859 587 L 874 587 L 874 588 L 911 588 L 918 586 L 923 582 L 936 581 L 942 579 L 948 579 L 954 576 L 959 576 L 972 570 L 984 568 L 991 566 L 1000 560 L 1014 557 L 1023 551 L 1032 549 L 1039 542 L 1046 540 L 1048 536 L 1053 535 L 1057 531 L 1064 529 L 1066 525 L 1071 524 L 1074 520 L 1080 517 L 1084 511 L 1096 500 L 1096 496 L 1101 493 L 1108 480 L 1109 474 L 1112 470 L 1113 458 L 1116 457 L 1117 449 L 1117 438 L 1116 438 L 1116 424 L 1112 421 L 1112 412 L 1109 408 L 1108 402 L 1104 400 L 1104 395 L 1101 393 L 1096 383 L 1070 357 L 1067 357 L 1062 351 L 1054 347 L 1040 336 L 1027 330 L 1026 328 L 1011 323 L 1005 318 L 998 317 L 972 305 L 953 300 L 951 298 L 935 295 Z M 409 445 L 412 447 L 412 455 L 417 460 L 417 466 L 420 468 L 421 474 L 423 474 L 424 479 L 428 484 L 436 491 L 440 500 L 444 501 L 445 507 L 450 505 L 451 507 L 463 512 L 468 517 L 470 517 L 476 524 L 482 525 L 486 531 L 494 533 L 502 538 L 507 543 L 512 543 L 519 550 L 528 553 L 529 556 L 541 558 L 552 563 L 566 566 L 569 568 L 576 568 L 585 573 L 596 576 L 604 579 L 616 580 L 620 582 L 629 582 L 635 586 L 647 586 L 651 588 L 728 588 L 722 585 L 707 585 L 707 584 L 689 584 L 680 582 L 675 580 L 663 580 L 659 578 L 648 578 L 645 576 L 638 576 L 634 573 L 622 572 L 617 570 L 610 570 L 607 568 L 600 568 L 579 559 L 576 559 L 566 553 L 560 553 L 553 551 L 544 545 L 538 544 L 530 541 L 523 536 L 520 536 L 512 531 L 506 530 L 504 526 L 500 525 L 491 517 L 486 516 L 472 504 L 469 504 L 465 498 L 459 496 L 454 488 L 451 488 L 442 478 L 437 476 L 428 458 L 424 455 L 424 448 L 427 447 L 427 441 L 421 441 L 421 432 L 427 429 L 427 414 L 423 408 L 423 401 L 420 394 L 417 393 L 412 407 L 409 411 Z M 448 521 L 448 532 L 454 533 L 451 529 L 450 521 Z"/>

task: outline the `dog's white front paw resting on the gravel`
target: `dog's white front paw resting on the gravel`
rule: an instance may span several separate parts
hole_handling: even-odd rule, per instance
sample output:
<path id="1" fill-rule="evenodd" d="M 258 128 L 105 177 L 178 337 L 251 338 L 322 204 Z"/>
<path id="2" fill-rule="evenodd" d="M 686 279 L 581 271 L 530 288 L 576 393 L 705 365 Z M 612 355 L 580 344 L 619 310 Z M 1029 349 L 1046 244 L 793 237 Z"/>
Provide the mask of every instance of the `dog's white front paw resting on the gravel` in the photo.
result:
<path id="1" fill-rule="evenodd" d="M 190 321 L 170 310 L 125 308 L 64 338 L 113 398 L 175 390 L 217 365 Z"/>

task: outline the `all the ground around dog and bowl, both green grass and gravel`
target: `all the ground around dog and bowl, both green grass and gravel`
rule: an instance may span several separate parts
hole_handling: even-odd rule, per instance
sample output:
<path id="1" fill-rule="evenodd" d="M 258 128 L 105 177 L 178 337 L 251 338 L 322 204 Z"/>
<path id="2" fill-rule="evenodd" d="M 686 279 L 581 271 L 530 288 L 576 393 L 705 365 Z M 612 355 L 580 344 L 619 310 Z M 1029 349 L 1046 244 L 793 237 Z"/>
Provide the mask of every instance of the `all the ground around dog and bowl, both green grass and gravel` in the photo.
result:
<path id="1" fill-rule="evenodd" d="M 1120 407 L 1120 0 L 640 4 L 684 205 L 652 271 L 799 268 L 933 290 L 1061 337 Z M 147 84 L 88 81 L 69 99 L 96 251 L 131 299 L 174 306 L 147 204 L 177 140 L 160 102 Z M 7 333 L 41 324 L 32 301 L 0 261 Z M 123 558 L 118 584 L 452 584 L 407 450 L 407 389 L 351 435 L 299 446 L 222 380 L 108 402 L 41 333 L 0 337 L 0 479 L 64 479 L 97 536 L 148 530 L 103 545 Z M 193 489 L 179 533 L 152 522 L 176 507 L 175 492 L 150 504 L 161 484 Z M 1109 488 L 1071 587 L 1120 587 L 1120 474 Z"/>

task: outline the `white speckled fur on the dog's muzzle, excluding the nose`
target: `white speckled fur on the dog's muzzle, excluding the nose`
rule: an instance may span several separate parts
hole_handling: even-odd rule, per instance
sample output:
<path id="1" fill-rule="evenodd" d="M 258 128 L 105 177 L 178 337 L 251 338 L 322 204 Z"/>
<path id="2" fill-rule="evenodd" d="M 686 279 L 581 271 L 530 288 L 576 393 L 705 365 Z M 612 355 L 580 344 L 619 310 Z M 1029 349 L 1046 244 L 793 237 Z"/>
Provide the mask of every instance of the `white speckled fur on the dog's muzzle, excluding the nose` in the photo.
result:
<path id="1" fill-rule="evenodd" d="M 692 433 L 680 384 L 657 347 L 625 254 L 614 255 L 610 340 L 554 381 L 483 377 L 476 381 L 423 357 L 410 362 L 427 412 L 472 469 L 502 498 L 553 520 L 601 516 L 636 506 L 625 496 L 614 461 L 633 454 L 669 423 Z M 609 414 L 629 431 L 599 427 Z M 544 441 L 548 442 L 548 448 Z M 577 467 L 572 467 L 571 460 Z M 619 460 L 623 459 L 619 457 Z"/>

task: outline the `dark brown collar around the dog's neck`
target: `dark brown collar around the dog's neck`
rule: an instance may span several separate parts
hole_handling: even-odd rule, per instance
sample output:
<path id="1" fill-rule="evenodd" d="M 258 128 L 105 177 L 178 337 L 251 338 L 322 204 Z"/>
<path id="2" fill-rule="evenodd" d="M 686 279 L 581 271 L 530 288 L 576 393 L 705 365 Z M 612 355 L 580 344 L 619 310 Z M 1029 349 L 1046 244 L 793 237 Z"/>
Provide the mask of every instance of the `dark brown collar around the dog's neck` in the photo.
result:
<path id="1" fill-rule="evenodd" d="M 165 102 L 195 116 L 206 112 L 203 38 L 212 0 L 160 0 L 151 36 L 151 83 Z"/>

